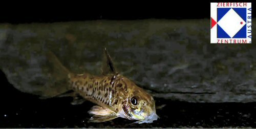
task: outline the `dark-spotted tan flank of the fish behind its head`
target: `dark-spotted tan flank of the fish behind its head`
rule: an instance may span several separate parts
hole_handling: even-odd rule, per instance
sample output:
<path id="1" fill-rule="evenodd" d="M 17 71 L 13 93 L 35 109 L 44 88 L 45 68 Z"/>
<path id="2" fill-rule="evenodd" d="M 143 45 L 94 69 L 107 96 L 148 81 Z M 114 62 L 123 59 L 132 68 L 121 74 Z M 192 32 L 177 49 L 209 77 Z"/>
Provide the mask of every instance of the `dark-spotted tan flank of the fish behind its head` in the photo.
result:
<path id="1" fill-rule="evenodd" d="M 76 75 L 71 79 L 71 87 L 86 99 L 104 107 L 117 111 L 116 105 L 121 104 L 127 84 L 118 75 L 91 76 L 89 74 Z"/>

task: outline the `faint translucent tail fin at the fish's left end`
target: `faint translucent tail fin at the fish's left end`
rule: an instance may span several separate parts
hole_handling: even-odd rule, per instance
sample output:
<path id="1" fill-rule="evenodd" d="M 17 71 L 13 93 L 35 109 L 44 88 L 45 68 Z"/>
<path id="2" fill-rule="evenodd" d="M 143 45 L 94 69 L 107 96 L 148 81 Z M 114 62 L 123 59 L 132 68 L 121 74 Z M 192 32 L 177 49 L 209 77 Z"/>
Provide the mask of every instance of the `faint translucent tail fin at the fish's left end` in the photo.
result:
<path id="1" fill-rule="evenodd" d="M 46 53 L 47 67 L 49 68 L 49 82 L 44 89 L 42 89 L 41 99 L 55 97 L 59 94 L 71 90 L 69 86 L 69 78 L 74 75 L 62 65 L 56 55 L 49 51 Z"/>

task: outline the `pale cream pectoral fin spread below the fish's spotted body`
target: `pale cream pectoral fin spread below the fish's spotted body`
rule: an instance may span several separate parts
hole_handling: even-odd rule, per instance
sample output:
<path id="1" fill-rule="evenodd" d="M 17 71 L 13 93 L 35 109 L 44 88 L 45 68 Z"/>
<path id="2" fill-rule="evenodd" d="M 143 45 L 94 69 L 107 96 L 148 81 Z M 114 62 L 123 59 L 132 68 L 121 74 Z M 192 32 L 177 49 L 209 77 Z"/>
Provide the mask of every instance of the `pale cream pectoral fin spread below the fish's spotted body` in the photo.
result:
<path id="1" fill-rule="evenodd" d="M 88 113 L 93 115 L 89 122 L 105 122 L 118 117 L 116 112 L 110 109 L 104 109 L 103 107 L 97 105 L 93 106 Z"/>

